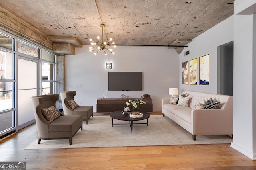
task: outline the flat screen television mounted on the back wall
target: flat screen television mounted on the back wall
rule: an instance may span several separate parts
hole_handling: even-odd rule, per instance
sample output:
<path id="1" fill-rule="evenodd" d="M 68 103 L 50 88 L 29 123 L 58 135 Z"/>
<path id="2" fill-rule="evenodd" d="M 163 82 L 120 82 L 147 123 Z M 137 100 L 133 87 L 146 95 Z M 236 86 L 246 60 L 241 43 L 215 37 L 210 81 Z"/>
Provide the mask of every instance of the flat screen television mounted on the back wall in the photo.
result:
<path id="1" fill-rule="evenodd" d="M 142 72 L 108 72 L 108 90 L 142 90 Z"/>

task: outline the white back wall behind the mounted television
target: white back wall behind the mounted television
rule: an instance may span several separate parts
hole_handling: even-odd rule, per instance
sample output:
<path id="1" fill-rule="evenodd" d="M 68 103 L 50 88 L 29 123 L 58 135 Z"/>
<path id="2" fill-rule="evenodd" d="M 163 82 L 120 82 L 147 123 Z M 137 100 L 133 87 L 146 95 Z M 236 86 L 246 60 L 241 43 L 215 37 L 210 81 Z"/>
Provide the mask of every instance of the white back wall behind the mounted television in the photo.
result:
<path id="1" fill-rule="evenodd" d="M 162 98 L 169 98 L 168 89 L 178 88 L 179 56 L 174 49 L 149 46 L 117 46 L 115 55 L 89 52 L 89 46 L 76 48 L 76 55 L 66 56 L 66 90 L 76 90 L 75 100 L 81 106 L 93 106 L 108 89 L 108 72 L 142 72 L 142 91 L 108 91 L 108 98 L 140 98 L 150 94 L 153 111 L 162 111 Z M 106 62 L 112 69 L 106 69 Z M 132 83 L 128 80 L 126 83 Z M 78 87 L 82 85 L 82 87 Z M 82 103 L 81 103 L 82 102 Z"/>

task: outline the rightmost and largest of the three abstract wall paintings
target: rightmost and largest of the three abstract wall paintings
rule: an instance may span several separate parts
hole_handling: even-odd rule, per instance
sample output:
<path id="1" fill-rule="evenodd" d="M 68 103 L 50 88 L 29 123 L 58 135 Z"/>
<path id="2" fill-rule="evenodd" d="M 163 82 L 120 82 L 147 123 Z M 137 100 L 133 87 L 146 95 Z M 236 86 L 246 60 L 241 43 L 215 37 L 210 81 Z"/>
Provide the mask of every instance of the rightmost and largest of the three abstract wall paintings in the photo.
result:
<path id="1" fill-rule="evenodd" d="M 210 54 L 199 57 L 199 84 L 210 85 Z"/>

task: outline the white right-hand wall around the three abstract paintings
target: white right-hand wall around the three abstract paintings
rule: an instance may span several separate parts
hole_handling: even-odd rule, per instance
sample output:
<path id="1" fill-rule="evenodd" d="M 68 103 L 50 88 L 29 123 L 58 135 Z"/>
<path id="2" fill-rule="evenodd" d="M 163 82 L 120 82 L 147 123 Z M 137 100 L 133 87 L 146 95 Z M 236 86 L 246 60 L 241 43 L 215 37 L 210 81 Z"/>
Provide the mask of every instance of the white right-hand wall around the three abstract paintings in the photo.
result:
<path id="1" fill-rule="evenodd" d="M 194 38 L 188 47 L 185 47 L 180 53 L 180 69 L 179 69 L 179 92 L 183 90 L 191 90 L 197 92 L 217 93 L 217 47 L 233 41 L 233 16 L 215 25 L 208 31 Z M 189 55 L 184 55 L 185 51 L 190 51 Z M 182 69 L 181 64 L 210 53 L 210 86 L 205 85 L 182 85 Z M 198 58 L 199 59 L 199 58 Z M 199 72 L 198 72 L 199 74 Z M 199 75 L 198 75 L 199 76 Z M 199 77 L 198 77 L 199 79 Z"/>

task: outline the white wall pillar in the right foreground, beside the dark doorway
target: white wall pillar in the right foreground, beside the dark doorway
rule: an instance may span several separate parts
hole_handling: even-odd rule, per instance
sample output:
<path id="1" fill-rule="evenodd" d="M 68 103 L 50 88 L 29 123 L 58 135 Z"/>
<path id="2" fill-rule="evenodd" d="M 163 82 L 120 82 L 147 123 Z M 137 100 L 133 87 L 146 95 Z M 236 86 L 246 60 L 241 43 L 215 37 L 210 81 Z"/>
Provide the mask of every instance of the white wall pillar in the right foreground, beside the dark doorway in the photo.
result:
<path id="1" fill-rule="evenodd" d="M 254 160 L 256 160 L 256 14 L 253 10 L 256 9 L 255 7 L 255 0 L 236 0 L 234 3 L 234 138 L 231 143 L 231 147 Z M 238 12 L 248 15 L 239 15 Z"/>

